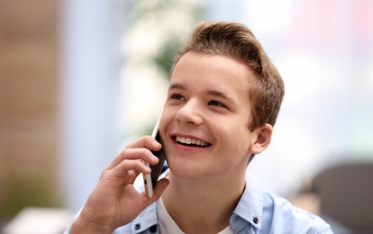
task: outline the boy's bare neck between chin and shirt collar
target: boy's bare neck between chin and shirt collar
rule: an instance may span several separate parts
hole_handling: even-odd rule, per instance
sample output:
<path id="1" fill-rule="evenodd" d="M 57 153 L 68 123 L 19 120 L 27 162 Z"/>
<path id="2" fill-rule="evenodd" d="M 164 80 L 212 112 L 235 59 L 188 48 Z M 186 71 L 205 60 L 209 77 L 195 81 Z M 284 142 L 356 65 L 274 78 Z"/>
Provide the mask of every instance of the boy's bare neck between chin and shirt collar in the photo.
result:
<path id="1" fill-rule="evenodd" d="M 218 233 L 226 228 L 245 186 L 244 175 L 219 175 L 196 182 L 170 173 L 168 179 L 170 184 L 162 199 L 172 219 L 186 233 Z"/>

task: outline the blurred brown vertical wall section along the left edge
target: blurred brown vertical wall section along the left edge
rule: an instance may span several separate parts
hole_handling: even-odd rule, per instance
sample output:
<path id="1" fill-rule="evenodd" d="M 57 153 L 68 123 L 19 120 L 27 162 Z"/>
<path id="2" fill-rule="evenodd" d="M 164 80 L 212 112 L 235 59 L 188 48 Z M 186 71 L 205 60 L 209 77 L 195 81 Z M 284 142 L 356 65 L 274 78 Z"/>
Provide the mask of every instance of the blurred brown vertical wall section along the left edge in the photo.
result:
<path id="1" fill-rule="evenodd" d="M 0 0 L 0 217 L 59 204 L 58 1 Z"/>

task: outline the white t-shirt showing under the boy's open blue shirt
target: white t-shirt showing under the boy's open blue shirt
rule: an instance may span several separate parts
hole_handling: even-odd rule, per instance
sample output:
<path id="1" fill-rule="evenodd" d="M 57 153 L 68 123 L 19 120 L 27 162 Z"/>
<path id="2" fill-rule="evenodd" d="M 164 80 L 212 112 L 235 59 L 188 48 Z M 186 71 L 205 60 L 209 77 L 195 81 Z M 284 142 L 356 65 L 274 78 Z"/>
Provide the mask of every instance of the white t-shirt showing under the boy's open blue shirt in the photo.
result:
<path id="1" fill-rule="evenodd" d="M 159 218 L 159 229 L 160 233 L 173 233 L 173 234 L 184 234 L 181 229 L 177 227 L 177 224 L 172 220 L 165 205 L 163 204 L 162 198 L 157 201 L 157 212 Z M 218 234 L 233 234 L 233 230 L 230 226 L 226 227 Z"/>

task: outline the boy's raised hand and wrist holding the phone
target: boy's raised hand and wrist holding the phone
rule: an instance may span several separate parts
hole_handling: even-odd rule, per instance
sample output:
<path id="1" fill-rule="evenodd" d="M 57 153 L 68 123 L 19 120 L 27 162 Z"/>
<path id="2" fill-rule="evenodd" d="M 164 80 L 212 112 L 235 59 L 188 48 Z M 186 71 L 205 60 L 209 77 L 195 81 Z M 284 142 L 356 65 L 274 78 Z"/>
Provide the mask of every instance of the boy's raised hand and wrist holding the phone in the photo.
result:
<path id="1" fill-rule="evenodd" d="M 70 233 L 112 233 L 134 220 L 150 203 L 156 202 L 168 186 L 167 179 L 159 181 L 151 198 L 146 193 L 138 193 L 133 183 L 140 173 L 149 174 L 151 171 L 142 159 L 152 165 L 158 163 L 158 157 L 150 149 L 158 151 L 160 148 L 161 145 L 150 136 L 124 148 L 103 170 Z"/>

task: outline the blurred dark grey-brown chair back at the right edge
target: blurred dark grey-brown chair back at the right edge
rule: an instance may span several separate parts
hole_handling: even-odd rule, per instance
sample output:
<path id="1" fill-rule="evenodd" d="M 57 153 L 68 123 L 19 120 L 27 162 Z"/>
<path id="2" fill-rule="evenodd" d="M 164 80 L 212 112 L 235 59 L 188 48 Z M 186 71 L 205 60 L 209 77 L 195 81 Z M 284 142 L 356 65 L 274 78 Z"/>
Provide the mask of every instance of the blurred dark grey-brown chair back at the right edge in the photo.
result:
<path id="1" fill-rule="evenodd" d="M 313 187 L 323 215 L 373 233 L 373 162 L 332 166 L 314 177 Z"/>

